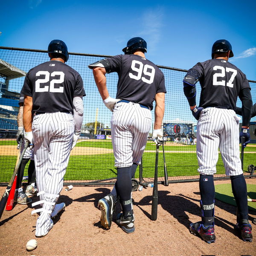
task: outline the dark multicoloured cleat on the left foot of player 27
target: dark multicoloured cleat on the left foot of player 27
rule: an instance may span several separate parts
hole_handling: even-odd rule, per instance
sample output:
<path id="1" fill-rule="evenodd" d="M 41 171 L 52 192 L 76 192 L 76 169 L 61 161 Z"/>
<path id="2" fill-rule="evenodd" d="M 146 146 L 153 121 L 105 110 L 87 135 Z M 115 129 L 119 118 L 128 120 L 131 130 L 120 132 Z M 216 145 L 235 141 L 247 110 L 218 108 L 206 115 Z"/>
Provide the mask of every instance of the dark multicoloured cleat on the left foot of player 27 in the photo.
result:
<path id="1" fill-rule="evenodd" d="M 205 227 L 202 221 L 198 221 L 189 225 L 189 231 L 195 236 L 201 236 L 208 244 L 215 242 L 214 226 Z"/>

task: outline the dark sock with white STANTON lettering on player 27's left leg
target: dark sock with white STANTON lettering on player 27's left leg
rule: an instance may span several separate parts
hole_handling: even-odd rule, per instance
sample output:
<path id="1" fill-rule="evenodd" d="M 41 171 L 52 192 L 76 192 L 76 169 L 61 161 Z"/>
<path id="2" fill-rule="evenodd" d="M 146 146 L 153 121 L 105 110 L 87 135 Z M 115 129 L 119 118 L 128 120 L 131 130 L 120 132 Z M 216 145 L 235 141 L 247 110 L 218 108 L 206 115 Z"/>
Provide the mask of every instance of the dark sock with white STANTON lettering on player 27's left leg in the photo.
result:
<path id="1" fill-rule="evenodd" d="M 202 217 L 214 217 L 215 187 L 213 175 L 200 175 L 199 189 L 201 195 Z M 206 218 L 203 222 L 205 226 L 214 225 L 214 219 L 212 218 Z"/>

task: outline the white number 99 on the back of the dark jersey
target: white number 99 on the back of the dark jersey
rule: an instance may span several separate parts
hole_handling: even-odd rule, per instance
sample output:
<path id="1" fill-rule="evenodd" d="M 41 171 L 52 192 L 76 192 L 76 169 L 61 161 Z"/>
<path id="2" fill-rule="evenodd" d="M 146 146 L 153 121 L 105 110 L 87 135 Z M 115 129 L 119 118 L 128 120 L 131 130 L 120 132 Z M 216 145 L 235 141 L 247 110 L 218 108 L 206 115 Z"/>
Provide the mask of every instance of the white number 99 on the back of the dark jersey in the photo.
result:
<path id="1" fill-rule="evenodd" d="M 135 67 L 136 64 L 137 64 L 137 67 Z M 138 65 L 139 65 L 139 67 L 138 67 Z M 153 81 L 154 81 L 154 74 L 155 74 L 154 67 L 152 67 L 152 66 L 150 66 L 148 64 L 143 65 L 142 62 L 133 60 L 131 62 L 131 69 L 133 71 L 137 72 L 137 75 L 129 73 L 129 77 L 130 78 L 135 79 L 135 80 L 140 80 L 141 79 L 143 82 L 145 82 L 147 84 L 152 84 L 153 83 Z M 145 76 L 149 76 L 149 79 L 146 79 L 144 76 L 142 76 L 142 73 Z"/>

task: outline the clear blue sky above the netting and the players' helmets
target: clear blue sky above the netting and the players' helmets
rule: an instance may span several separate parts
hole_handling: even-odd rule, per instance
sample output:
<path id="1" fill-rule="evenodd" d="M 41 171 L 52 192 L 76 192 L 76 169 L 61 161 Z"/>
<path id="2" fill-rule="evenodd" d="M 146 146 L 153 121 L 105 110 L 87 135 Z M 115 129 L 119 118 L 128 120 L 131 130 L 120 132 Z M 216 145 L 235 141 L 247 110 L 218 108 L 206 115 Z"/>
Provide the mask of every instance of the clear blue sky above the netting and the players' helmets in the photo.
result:
<path id="1" fill-rule="evenodd" d="M 1 3 L 0 45 L 47 49 L 52 39 L 70 52 L 116 55 L 128 39 L 143 37 L 155 64 L 189 69 L 211 58 L 227 39 L 230 62 L 256 80 L 256 1 L 67 1 Z"/>

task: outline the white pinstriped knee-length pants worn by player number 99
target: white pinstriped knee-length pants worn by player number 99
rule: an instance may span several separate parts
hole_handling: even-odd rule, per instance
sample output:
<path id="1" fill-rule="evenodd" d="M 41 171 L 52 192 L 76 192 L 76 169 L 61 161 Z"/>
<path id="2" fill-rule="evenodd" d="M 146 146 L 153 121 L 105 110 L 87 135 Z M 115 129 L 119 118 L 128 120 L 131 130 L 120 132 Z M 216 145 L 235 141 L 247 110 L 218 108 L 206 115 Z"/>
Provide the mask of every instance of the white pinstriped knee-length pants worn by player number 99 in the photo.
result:
<path id="1" fill-rule="evenodd" d="M 140 164 L 148 132 L 151 111 L 133 102 L 117 102 L 111 117 L 111 137 L 118 168 Z"/>

